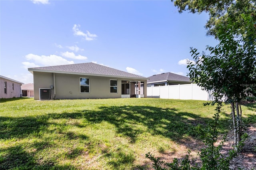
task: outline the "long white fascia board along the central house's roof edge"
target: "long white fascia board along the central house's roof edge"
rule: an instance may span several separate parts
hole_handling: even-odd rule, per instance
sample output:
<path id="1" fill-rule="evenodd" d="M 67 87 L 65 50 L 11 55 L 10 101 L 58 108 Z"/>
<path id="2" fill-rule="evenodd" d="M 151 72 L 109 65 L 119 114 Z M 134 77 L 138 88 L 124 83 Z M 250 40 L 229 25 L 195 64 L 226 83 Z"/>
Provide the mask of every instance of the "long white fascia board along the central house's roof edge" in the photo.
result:
<path id="1" fill-rule="evenodd" d="M 41 70 L 41 69 L 28 69 L 33 74 L 33 71 L 37 72 L 46 72 L 46 73 L 60 73 L 60 74 L 74 74 L 74 75 L 90 75 L 90 76 L 98 76 L 98 77 L 117 77 L 124 79 L 140 79 L 140 80 L 149 80 L 149 78 L 141 78 L 141 77 L 125 77 L 118 75 L 103 75 L 103 74 L 92 74 L 92 73 L 77 73 L 77 72 L 69 72 L 69 71 L 52 71 L 52 70 Z"/>

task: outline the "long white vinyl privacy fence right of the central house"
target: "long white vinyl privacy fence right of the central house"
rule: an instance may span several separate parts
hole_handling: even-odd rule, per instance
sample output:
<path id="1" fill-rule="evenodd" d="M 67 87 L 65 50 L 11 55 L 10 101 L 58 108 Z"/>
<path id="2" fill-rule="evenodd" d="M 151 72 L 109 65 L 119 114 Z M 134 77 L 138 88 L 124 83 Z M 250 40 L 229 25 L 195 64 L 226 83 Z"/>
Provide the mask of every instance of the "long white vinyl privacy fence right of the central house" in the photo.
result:
<path id="1" fill-rule="evenodd" d="M 184 99 L 212 101 L 210 92 L 203 91 L 196 84 L 147 87 L 147 97 L 161 99 Z"/>

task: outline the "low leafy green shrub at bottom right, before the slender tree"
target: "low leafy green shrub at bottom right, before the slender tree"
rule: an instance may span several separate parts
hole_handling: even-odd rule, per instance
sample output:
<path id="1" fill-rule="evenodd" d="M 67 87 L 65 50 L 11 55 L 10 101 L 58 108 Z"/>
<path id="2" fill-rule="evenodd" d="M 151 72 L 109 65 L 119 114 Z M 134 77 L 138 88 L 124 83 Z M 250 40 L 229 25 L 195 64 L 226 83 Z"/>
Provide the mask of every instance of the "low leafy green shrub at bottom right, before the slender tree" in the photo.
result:
<path id="1" fill-rule="evenodd" d="M 203 142 L 206 145 L 205 148 L 198 152 L 202 164 L 191 165 L 191 160 L 189 159 L 190 151 L 186 157 L 179 162 L 177 158 L 174 158 L 173 162 L 164 162 L 160 158 L 156 158 L 150 152 L 146 154 L 146 158 L 153 162 L 153 168 L 156 170 L 228 170 L 230 161 L 237 156 L 240 152 L 242 146 L 244 145 L 244 140 L 247 134 L 244 134 L 241 142 L 239 142 L 236 148 L 229 150 L 228 155 L 222 154 L 223 144 L 226 141 L 226 135 L 223 137 L 222 141 L 218 146 L 215 145 L 218 139 L 218 127 L 219 119 L 221 113 L 222 104 L 218 103 L 216 107 L 216 114 L 214 114 L 214 120 L 208 124 L 206 128 L 197 126 L 198 132 L 200 132 Z"/>

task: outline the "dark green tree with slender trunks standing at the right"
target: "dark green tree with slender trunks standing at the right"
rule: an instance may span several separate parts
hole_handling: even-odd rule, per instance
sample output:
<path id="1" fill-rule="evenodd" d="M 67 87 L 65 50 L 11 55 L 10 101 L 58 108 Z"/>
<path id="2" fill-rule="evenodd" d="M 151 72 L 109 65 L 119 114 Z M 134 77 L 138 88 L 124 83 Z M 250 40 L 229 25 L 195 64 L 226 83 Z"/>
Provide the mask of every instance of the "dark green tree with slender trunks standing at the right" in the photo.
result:
<path id="1" fill-rule="evenodd" d="M 190 62 L 190 79 L 202 89 L 213 91 L 215 102 L 230 103 L 234 127 L 234 144 L 240 142 L 243 134 L 241 99 L 255 93 L 256 85 L 256 19 L 252 14 L 241 14 L 244 34 L 234 34 L 232 19 L 218 28 L 216 36 L 220 43 L 216 47 L 206 47 L 200 54 L 191 48 L 196 64 Z"/>

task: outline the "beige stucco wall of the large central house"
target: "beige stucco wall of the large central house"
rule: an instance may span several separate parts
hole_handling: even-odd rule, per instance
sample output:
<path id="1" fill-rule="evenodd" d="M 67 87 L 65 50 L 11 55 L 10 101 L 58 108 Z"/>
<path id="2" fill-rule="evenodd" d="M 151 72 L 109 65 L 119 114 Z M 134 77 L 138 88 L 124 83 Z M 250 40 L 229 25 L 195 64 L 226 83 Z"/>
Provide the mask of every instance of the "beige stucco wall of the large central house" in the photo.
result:
<path id="1" fill-rule="evenodd" d="M 80 93 L 80 77 L 90 79 L 90 93 Z M 54 86 L 53 73 L 34 71 L 34 99 L 39 100 L 39 89 L 50 89 Z M 118 93 L 110 93 L 110 79 L 118 80 Z M 55 73 L 55 99 L 100 99 L 121 98 L 122 80 L 144 81 L 140 79 L 122 79 L 113 77 L 99 77 L 87 75 L 71 75 Z M 146 86 L 146 83 L 144 83 Z M 144 87 L 146 94 L 146 87 Z M 54 97 L 52 91 L 52 97 Z M 146 96 L 146 95 L 145 95 Z"/>

